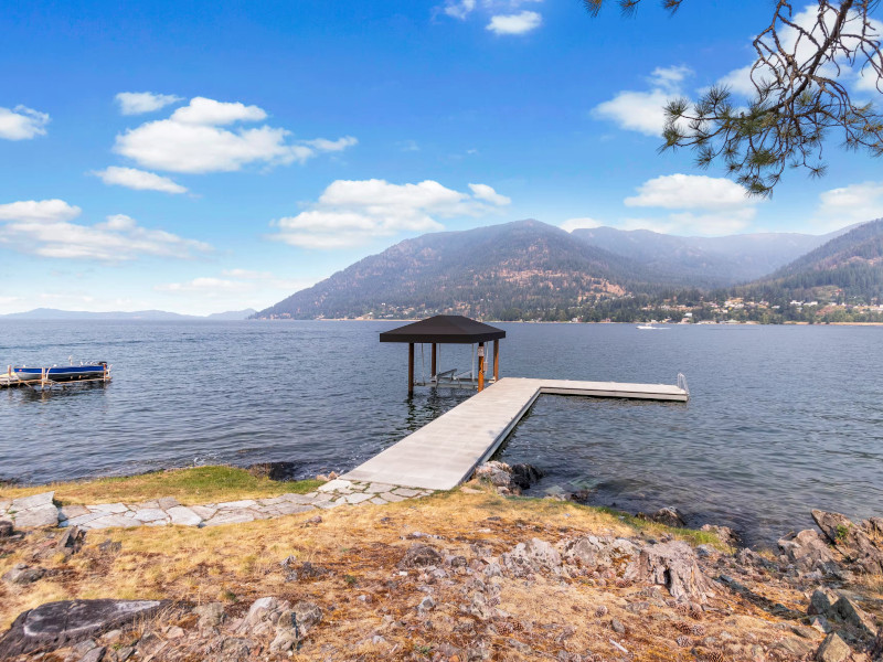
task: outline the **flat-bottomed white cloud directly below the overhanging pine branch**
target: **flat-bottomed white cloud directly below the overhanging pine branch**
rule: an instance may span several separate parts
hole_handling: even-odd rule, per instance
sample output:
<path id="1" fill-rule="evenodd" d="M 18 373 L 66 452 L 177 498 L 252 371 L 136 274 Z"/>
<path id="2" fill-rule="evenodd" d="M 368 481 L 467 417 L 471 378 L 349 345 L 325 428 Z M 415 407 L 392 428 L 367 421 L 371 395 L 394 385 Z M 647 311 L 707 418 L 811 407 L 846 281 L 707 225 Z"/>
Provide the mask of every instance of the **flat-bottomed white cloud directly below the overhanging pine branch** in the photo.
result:
<path id="1" fill-rule="evenodd" d="M 757 204 L 735 182 L 702 174 L 668 174 L 638 186 L 638 194 L 626 197 L 626 206 L 651 206 L 668 210 L 719 210 Z"/>

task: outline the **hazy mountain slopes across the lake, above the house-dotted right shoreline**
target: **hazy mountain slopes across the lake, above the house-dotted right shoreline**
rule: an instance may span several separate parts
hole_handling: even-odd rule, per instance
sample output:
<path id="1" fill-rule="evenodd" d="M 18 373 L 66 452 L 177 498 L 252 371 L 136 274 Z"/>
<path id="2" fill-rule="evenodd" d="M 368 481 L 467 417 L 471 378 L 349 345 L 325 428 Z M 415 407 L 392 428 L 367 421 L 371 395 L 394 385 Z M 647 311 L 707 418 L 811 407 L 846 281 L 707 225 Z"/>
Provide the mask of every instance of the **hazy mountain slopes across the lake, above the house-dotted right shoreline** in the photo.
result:
<path id="1" fill-rule="evenodd" d="M 406 239 L 255 317 L 570 319 L 591 309 L 610 317 L 626 307 L 699 305 L 731 292 L 787 298 L 791 290 L 837 289 L 841 279 L 851 296 L 874 298 L 877 290 L 865 285 L 883 277 L 881 237 L 883 220 L 827 235 L 728 237 L 611 227 L 567 233 L 518 221 Z"/>

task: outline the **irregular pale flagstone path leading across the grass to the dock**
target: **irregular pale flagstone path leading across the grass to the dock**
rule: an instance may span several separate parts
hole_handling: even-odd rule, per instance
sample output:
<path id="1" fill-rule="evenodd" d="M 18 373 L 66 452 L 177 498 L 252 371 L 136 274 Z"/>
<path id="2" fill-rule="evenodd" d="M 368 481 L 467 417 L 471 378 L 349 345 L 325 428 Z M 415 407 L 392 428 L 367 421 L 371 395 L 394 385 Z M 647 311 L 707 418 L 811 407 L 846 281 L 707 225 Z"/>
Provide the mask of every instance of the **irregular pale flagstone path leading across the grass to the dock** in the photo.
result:
<path id="1" fill-rule="evenodd" d="M 181 505 L 172 496 L 143 503 L 99 503 L 62 505 L 53 503 L 55 492 L 44 492 L 15 500 L 0 500 L 0 520 L 11 520 L 15 528 L 35 526 L 78 526 L 110 528 L 114 526 L 216 526 L 254 520 L 269 520 L 295 513 L 339 505 L 383 505 L 430 494 L 432 490 L 414 490 L 384 483 L 336 479 L 307 494 L 281 494 L 269 499 L 243 499 L 224 503 Z"/>

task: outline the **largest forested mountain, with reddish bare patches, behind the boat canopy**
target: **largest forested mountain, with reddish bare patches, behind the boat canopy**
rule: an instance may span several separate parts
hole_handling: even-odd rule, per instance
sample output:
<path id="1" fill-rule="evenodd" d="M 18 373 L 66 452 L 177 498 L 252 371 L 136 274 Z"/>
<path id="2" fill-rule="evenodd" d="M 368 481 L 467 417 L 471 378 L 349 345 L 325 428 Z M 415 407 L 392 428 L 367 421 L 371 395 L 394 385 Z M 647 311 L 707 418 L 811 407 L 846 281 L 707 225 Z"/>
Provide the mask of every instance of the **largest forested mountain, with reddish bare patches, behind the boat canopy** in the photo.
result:
<path id="1" fill-rule="evenodd" d="M 427 234 L 366 257 L 256 317 L 528 312 L 657 291 L 664 275 L 539 221 Z"/>

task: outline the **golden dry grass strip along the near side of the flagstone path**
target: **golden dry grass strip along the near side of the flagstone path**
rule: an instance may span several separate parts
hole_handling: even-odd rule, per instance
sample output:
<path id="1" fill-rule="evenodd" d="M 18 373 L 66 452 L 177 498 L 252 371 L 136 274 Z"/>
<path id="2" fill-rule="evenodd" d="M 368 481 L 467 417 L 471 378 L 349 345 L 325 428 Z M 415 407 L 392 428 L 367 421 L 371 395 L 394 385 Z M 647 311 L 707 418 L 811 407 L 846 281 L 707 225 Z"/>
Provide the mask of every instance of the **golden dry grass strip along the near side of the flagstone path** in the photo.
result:
<path id="1" fill-rule="evenodd" d="M 394 567 L 413 542 L 400 536 L 414 532 L 442 536 L 445 545 L 478 543 L 494 554 L 510 549 L 515 538 L 557 541 L 579 532 L 635 533 L 617 517 L 594 509 L 534 500 L 513 505 L 488 493 L 450 492 L 418 502 L 340 508 L 322 512 L 320 525 L 305 526 L 315 514 L 205 528 L 145 526 L 91 532 L 79 554 L 67 560 L 50 556 L 38 562 L 52 577 L 23 588 L 0 585 L 0 626 L 9 624 L 24 609 L 73 597 L 249 602 L 263 595 L 278 595 L 279 562 L 289 555 L 345 568 L 340 576 L 354 576 L 358 585 L 360 575 L 377 563 Z M 121 543 L 121 552 L 100 553 L 98 544 L 105 540 Z M 32 541 L 28 549 L 34 544 Z M 33 564 L 28 554 L 22 548 L 0 558 L 0 574 L 17 563 Z"/>

